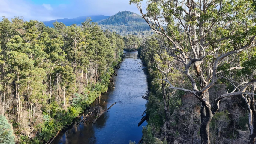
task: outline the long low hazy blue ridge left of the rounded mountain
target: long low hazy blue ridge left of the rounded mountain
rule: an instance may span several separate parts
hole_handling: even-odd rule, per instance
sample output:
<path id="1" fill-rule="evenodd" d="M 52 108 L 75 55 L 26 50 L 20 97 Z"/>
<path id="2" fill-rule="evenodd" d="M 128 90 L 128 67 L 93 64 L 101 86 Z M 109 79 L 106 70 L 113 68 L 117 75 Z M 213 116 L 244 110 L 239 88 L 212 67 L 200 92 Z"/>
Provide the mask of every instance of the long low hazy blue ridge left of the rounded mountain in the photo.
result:
<path id="1" fill-rule="evenodd" d="M 104 16 L 104 15 L 97 15 L 97 16 L 80 16 L 77 18 L 73 18 L 73 19 L 56 19 L 56 20 L 50 20 L 50 21 L 44 21 L 43 23 L 46 26 L 49 27 L 53 27 L 53 22 L 62 22 L 64 23 L 66 26 L 70 26 L 72 24 L 81 24 L 81 22 L 84 22 L 88 17 L 91 17 L 92 22 L 97 22 L 100 21 L 102 19 L 107 19 L 110 16 Z"/>

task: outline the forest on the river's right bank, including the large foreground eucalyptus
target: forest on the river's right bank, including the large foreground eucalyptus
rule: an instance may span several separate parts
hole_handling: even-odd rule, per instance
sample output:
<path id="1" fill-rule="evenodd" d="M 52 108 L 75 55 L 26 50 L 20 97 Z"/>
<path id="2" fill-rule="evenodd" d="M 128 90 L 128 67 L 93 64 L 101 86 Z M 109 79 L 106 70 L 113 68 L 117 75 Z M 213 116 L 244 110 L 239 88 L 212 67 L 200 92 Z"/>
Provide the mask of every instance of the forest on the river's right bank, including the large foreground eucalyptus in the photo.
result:
<path id="1" fill-rule="evenodd" d="M 150 90 L 139 143 L 254 144 L 255 1 L 129 3 L 154 32 L 138 49 Z"/>

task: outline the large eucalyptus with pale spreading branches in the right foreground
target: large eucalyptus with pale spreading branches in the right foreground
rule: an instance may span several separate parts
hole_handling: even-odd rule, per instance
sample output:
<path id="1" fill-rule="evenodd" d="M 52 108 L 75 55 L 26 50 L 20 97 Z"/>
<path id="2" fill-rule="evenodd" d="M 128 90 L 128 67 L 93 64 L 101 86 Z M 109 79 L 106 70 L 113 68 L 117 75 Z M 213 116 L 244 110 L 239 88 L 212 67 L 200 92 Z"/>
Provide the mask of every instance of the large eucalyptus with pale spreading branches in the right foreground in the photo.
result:
<path id="1" fill-rule="evenodd" d="M 224 72 L 241 69 L 232 64 L 233 59 L 255 46 L 253 1 L 149 0 L 146 13 L 141 1 L 130 0 L 129 4 L 135 4 L 151 30 L 165 38 L 162 49 L 177 61 L 176 69 L 188 77 L 191 88 L 173 86 L 167 76 L 164 80 L 171 89 L 191 93 L 200 100 L 201 143 L 210 143 L 209 124 L 219 109 L 219 101 L 244 94 L 256 82 L 252 79 L 239 91 L 220 95 L 213 105 L 209 103 L 209 88 Z"/>

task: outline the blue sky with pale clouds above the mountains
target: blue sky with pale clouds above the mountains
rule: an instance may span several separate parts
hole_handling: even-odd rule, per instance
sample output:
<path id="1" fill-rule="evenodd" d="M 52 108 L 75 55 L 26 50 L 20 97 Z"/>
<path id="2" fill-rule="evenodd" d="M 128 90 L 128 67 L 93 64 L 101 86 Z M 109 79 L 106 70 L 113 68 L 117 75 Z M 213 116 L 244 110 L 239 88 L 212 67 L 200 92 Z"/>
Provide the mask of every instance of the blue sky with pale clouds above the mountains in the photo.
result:
<path id="1" fill-rule="evenodd" d="M 124 10 L 139 13 L 137 7 L 129 5 L 129 0 L 0 0 L 0 16 L 9 19 L 23 16 L 24 20 L 48 21 L 79 16 L 112 16 Z"/>

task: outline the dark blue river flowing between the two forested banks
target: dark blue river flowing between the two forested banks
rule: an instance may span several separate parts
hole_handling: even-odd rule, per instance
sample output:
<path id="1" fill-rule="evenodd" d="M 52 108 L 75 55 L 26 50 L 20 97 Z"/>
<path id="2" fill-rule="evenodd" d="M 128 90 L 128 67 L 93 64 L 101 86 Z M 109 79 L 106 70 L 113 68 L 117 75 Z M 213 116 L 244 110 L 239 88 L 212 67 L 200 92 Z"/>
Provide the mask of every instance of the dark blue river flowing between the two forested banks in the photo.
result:
<path id="1" fill-rule="evenodd" d="M 53 141 L 54 144 L 127 144 L 138 141 L 142 137 L 142 126 L 138 123 L 142 118 L 147 92 L 144 66 L 137 57 L 138 52 L 126 52 L 121 63 L 118 76 L 114 76 L 115 89 L 102 95 L 107 99 L 102 107 L 107 108 L 119 101 L 108 112 L 104 113 L 93 126 L 88 123 L 72 125 L 68 130 L 61 131 Z"/>

